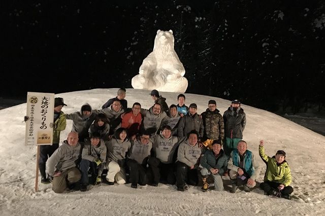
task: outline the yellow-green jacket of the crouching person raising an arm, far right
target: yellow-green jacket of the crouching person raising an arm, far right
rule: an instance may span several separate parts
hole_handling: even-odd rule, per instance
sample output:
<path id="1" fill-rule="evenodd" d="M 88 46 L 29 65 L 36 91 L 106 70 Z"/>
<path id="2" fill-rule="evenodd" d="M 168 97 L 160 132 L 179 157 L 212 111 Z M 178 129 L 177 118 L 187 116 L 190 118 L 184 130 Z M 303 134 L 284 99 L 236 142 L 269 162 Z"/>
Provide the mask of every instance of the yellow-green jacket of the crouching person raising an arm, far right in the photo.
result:
<path id="1" fill-rule="evenodd" d="M 289 164 L 284 160 L 283 163 L 277 164 L 275 156 L 270 158 L 264 153 L 264 146 L 258 148 L 259 156 L 267 162 L 267 170 L 264 176 L 264 182 L 276 182 L 289 186 L 292 181 Z"/>

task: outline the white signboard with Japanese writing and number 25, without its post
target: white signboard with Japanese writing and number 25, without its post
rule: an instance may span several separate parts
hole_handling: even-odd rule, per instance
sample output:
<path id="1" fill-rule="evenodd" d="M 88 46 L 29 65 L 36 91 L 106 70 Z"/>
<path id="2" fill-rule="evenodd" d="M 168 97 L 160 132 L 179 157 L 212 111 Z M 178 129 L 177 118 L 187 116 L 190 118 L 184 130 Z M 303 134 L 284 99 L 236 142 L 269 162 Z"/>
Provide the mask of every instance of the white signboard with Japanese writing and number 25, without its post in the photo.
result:
<path id="1" fill-rule="evenodd" d="M 54 94 L 27 92 L 25 146 L 52 145 Z"/>

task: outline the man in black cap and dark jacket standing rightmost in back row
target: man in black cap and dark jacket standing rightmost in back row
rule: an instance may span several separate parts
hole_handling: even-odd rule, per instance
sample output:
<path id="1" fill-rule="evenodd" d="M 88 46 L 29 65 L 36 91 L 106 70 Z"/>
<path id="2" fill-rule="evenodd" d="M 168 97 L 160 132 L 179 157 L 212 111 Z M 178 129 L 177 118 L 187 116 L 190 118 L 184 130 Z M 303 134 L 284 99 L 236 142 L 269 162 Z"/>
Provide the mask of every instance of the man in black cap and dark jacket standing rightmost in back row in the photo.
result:
<path id="1" fill-rule="evenodd" d="M 230 157 L 230 153 L 237 149 L 238 142 L 243 138 L 246 125 L 246 115 L 240 107 L 239 100 L 233 100 L 231 106 L 223 113 L 225 143 L 223 149 Z"/>

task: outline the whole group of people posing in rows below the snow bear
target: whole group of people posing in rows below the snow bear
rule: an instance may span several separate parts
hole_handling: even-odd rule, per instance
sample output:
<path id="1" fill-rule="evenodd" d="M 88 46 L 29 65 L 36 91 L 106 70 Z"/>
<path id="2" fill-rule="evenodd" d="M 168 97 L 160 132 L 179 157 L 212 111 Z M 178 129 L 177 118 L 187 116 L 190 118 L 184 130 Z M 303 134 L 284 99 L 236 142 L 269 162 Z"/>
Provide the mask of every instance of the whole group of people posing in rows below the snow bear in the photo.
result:
<path id="1" fill-rule="evenodd" d="M 216 101 L 209 100 L 199 115 L 196 103 L 185 105 L 184 94 L 178 95 L 177 105 L 168 106 L 166 98 L 152 90 L 149 110 L 139 102 L 128 108 L 125 94 L 119 89 L 101 110 L 86 103 L 71 114 L 61 111 L 63 98 L 55 98 L 53 145 L 40 150 L 42 183 L 52 182 L 56 193 L 67 188 L 86 191 L 89 184 L 102 182 L 131 183 L 132 188 L 176 184 L 178 191 L 185 191 L 202 180 L 202 191 L 222 191 L 222 176 L 229 175 L 231 193 L 239 186 L 245 192 L 255 187 L 261 166 L 242 140 L 246 115 L 239 100 L 233 100 L 223 115 Z M 72 131 L 59 146 L 66 120 L 73 121 Z M 259 156 L 267 165 L 261 189 L 290 199 L 293 188 L 285 152 L 269 157 L 261 140 Z"/>

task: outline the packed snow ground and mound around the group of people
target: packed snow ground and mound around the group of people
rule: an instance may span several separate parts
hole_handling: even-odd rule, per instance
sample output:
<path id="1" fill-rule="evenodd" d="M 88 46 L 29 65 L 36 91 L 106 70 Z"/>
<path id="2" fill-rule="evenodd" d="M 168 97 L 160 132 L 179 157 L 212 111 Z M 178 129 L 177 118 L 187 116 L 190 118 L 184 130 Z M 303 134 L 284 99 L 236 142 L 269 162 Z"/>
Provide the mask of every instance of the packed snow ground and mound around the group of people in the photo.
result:
<path id="1" fill-rule="evenodd" d="M 57 94 L 68 106 L 64 113 L 79 111 L 88 102 L 100 109 L 107 99 L 116 96 L 117 89 L 93 89 Z M 149 108 L 153 101 L 150 91 L 127 89 L 128 106 L 140 102 Z M 177 104 L 177 93 L 160 92 L 167 103 Z M 210 96 L 185 94 L 186 104 L 196 102 L 198 113 L 207 109 L 210 99 L 217 101 L 221 114 L 230 101 Z M 242 104 L 247 117 L 244 140 L 248 149 L 263 166 L 257 182 L 263 180 L 266 167 L 258 157 L 258 141 L 264 139 L 266 153 L 276 150 L 287 153 L 293 174 L 294 199 L 285 200 L 265 196 L 257 187 L 251 193 L 238 190 L 229 193 L 230 181 L 224 178 L 225 191 L 201 192 L 190 186 L 186 192 L 176 186 L 163 185 L 132 189 L 130 184 L 91 186 L 87 192 L 73 191 L 55 194 L 51 185 L 39 183 L 35 192 L 37 147 L 24 146 L 26 104 L 0 111 L 0 214 L 1 215 L 316 215 L 325 210 L 325 137 L 275 114 Z M 61 133 L 65 139 L 72 127 Z M 258 184 L 257 184 L 258 185 Z"/>

